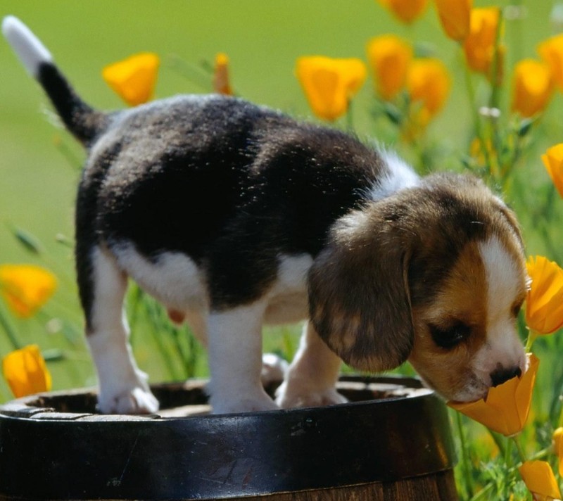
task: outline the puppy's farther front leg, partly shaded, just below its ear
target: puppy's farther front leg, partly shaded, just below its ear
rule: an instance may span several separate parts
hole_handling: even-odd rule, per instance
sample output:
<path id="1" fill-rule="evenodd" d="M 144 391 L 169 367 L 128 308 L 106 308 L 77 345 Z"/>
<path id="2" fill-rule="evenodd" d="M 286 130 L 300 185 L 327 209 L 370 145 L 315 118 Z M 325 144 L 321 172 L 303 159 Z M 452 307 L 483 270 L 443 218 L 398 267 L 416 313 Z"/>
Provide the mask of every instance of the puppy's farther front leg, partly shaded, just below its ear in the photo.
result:
<path id="1" fill-rule="evenodd" d="M 287 409 L 346 402 L 336 391 L 341 364 L 340 357 L 322 341 L 312 323 L 307 322 L 286 379 L 278 388 L 277 404 Z"/>

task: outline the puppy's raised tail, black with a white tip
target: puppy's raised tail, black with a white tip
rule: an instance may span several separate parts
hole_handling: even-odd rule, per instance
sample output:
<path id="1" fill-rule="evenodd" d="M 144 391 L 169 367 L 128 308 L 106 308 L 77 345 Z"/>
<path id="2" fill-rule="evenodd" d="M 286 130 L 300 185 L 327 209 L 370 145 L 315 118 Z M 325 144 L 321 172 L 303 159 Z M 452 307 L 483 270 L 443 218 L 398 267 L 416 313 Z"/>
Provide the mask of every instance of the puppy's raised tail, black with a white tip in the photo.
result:
<path id="1" fill-rule="evenodd" d="M 27 72 L 42 85 L 65 126 L 83 144 L 106 129 L 108 116 L 84 103 L 56 67 L 53 56 L 31 30 L 13 15 L 2 21 L 2 33 Z"/>

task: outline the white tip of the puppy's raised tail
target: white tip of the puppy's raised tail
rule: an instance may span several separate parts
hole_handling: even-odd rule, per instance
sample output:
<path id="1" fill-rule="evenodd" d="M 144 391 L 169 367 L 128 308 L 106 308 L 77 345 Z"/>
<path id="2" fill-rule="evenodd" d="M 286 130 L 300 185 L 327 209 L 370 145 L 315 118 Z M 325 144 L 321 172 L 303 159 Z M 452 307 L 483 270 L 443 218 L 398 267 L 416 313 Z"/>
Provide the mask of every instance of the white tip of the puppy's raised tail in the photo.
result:
<path id="1" fill-rule="evenodd" d="M 13 15 L 2 20 L 2 33 L 20 58 L 27 72 L 37 77 L 42 63 L 52 63 L 53 57 L 32 31 Z"/>

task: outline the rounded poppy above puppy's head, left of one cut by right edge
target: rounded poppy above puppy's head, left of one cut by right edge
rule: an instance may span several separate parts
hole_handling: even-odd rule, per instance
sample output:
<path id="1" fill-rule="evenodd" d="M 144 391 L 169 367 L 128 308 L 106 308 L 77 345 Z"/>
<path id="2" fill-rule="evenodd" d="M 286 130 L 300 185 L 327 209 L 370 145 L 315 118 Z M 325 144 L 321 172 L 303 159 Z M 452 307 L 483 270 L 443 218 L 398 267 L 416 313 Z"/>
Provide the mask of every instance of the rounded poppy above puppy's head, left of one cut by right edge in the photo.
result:
<path id="1" fill-rule="evenodd" d="M 514 67 L 512 111 L 531 117 L 548 106 L 553 91 L 550 67 L 533 59 L 519 61 Z"/>

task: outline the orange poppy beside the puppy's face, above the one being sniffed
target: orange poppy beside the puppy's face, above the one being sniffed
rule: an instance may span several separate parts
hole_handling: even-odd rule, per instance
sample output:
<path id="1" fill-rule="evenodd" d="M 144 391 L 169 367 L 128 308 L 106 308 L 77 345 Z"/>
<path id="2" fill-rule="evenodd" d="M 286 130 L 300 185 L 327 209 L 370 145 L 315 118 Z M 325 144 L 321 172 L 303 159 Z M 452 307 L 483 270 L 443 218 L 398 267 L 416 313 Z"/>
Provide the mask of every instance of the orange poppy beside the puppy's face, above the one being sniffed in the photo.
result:
<path id="1" fill-rule="evenodd" d="M 563 269 L 541 255 L 526 262 L 531 278 L 526 297 L 526 324 L 538 334 L 563 326 Z"/>

